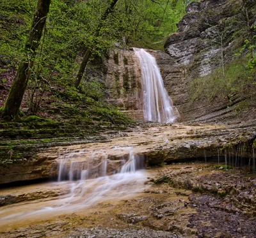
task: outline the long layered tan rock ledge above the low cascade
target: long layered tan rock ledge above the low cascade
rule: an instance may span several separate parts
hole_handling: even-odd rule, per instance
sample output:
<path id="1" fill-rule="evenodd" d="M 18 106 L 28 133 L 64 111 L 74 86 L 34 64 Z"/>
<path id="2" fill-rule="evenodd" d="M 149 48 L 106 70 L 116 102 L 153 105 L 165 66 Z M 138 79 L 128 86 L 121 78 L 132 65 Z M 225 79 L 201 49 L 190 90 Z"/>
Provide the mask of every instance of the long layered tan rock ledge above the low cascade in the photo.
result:
<path id="1" fill-rule="evenodd" d="M 70 154 L 79 156 L 83 163 L 92 158 L 95 152 L 101 151 L 108 156 L 109 166 L 113 165 L 113 169 L 116 169 L 118 160 L 128 158 L 129 150 L 126 147 L 132 147 L 134 154 L 144 156 L 147 167 L 198 159 L 227 160 L 227 163 L 236 163 L 236 167 L 249 162 L 252 165 L 255 131 L 254 125 L 237 128 L 212 124 L 156 126 L 149 123 L 111 140 L 45 148 L 28 160 L 1 160 L 0 184 L 57 177 L 60 161 Z M 108 172 L 113 170 L 109 169 Z"/>

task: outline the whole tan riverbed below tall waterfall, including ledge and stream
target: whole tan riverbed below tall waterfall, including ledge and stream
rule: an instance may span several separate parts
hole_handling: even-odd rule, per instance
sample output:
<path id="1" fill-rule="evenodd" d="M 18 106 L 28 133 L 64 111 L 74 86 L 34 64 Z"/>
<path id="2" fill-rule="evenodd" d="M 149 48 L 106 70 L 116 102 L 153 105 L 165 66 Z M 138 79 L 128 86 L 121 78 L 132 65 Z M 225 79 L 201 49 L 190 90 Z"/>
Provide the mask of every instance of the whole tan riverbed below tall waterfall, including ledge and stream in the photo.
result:
<path id="1" fill-rule="evenodd" d="M 253 238 L 255 131 L 255 124 L 146 123 L 3 163 L 0 237 Z M 118 174 L 135 157 L 147 169 Z M 57 182 L 61 165 L 66 177 Z M 76 181 L 84 167 L 91 175 Z M 44 178 L 52 181 L 31 180 Z M 8 184 L 15 181 L 23 182 Z"/>

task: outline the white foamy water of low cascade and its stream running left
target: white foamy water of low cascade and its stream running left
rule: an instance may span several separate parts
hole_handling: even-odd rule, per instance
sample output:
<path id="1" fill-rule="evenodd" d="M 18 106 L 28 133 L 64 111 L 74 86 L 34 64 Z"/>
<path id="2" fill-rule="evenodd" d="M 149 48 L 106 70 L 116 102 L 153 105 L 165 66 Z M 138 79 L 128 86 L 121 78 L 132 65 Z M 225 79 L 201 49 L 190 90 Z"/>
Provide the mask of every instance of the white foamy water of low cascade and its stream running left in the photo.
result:
<path id="1" fill-rule="evenodd" d="M 106 152 L 97 151 L 83 161 L 81 157 L 86 151 L 66 154 L 60 161 L 59 182 L 48 183 L 47 186 L 54 189 L 58 185 L 63 189 L 68 188 L 70 192 L 58 198 L 1 207 L 1 223 L 74 212 L 142 191 L 147 180 L 147 172 L 141 170 L 144 158 L 134 154 L 132 147 L 115 147 L 113 150 L 123 151 L 124 158 L 120 161 L 108 160 Z"/>

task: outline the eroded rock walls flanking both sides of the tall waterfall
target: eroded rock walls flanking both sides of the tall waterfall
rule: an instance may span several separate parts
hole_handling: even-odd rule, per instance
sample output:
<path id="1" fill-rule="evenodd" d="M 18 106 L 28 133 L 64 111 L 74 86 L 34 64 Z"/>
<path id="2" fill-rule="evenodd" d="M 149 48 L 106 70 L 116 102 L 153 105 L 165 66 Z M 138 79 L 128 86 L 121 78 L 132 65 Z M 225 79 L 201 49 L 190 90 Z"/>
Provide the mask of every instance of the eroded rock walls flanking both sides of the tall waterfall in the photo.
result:
<path id="1" fill-rule="evenodd" d="M 244 40 L 255 34 L 255 25 L 254 0 L 202 0 L 188 6 L 177 32 L 166 40 L 166 52 L 147 50 L 156 57 L 180 122 L 239 123 L 255 119 L 255 75 L 252 82 L 246 82 L 248 77 L 236 72 L 233 81 L 223 86 L 226 76 L 221 71 L 223 65 L 229 67 L 235 61 L 246 67 L 246 57 L 235 54 Z M 105 67 L 106 101 L 134 119 L 143 119 L 140 63 L 133 50 L 111 52 Z M 220 69 L 218 80 L 214 83 L 212 76 L 213 86 L 202 86 L 204 82 L 197 79 L 216 73 L 216 69 Z"/>

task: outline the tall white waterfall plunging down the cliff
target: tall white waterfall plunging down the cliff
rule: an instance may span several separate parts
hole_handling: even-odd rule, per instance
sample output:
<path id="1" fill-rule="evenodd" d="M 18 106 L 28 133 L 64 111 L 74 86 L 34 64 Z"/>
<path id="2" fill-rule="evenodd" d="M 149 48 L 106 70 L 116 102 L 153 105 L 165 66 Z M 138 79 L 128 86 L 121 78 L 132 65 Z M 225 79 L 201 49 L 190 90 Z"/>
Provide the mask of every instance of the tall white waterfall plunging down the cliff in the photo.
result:
<path id="1" fill-rule="evenodd" d="M 173 123 L 179 117 L 179 112 L 173 107 L 172 100 L 164 88 L 155 57 L 143 48 L 133 50 L 140 60 L 145 121 Z"/>

